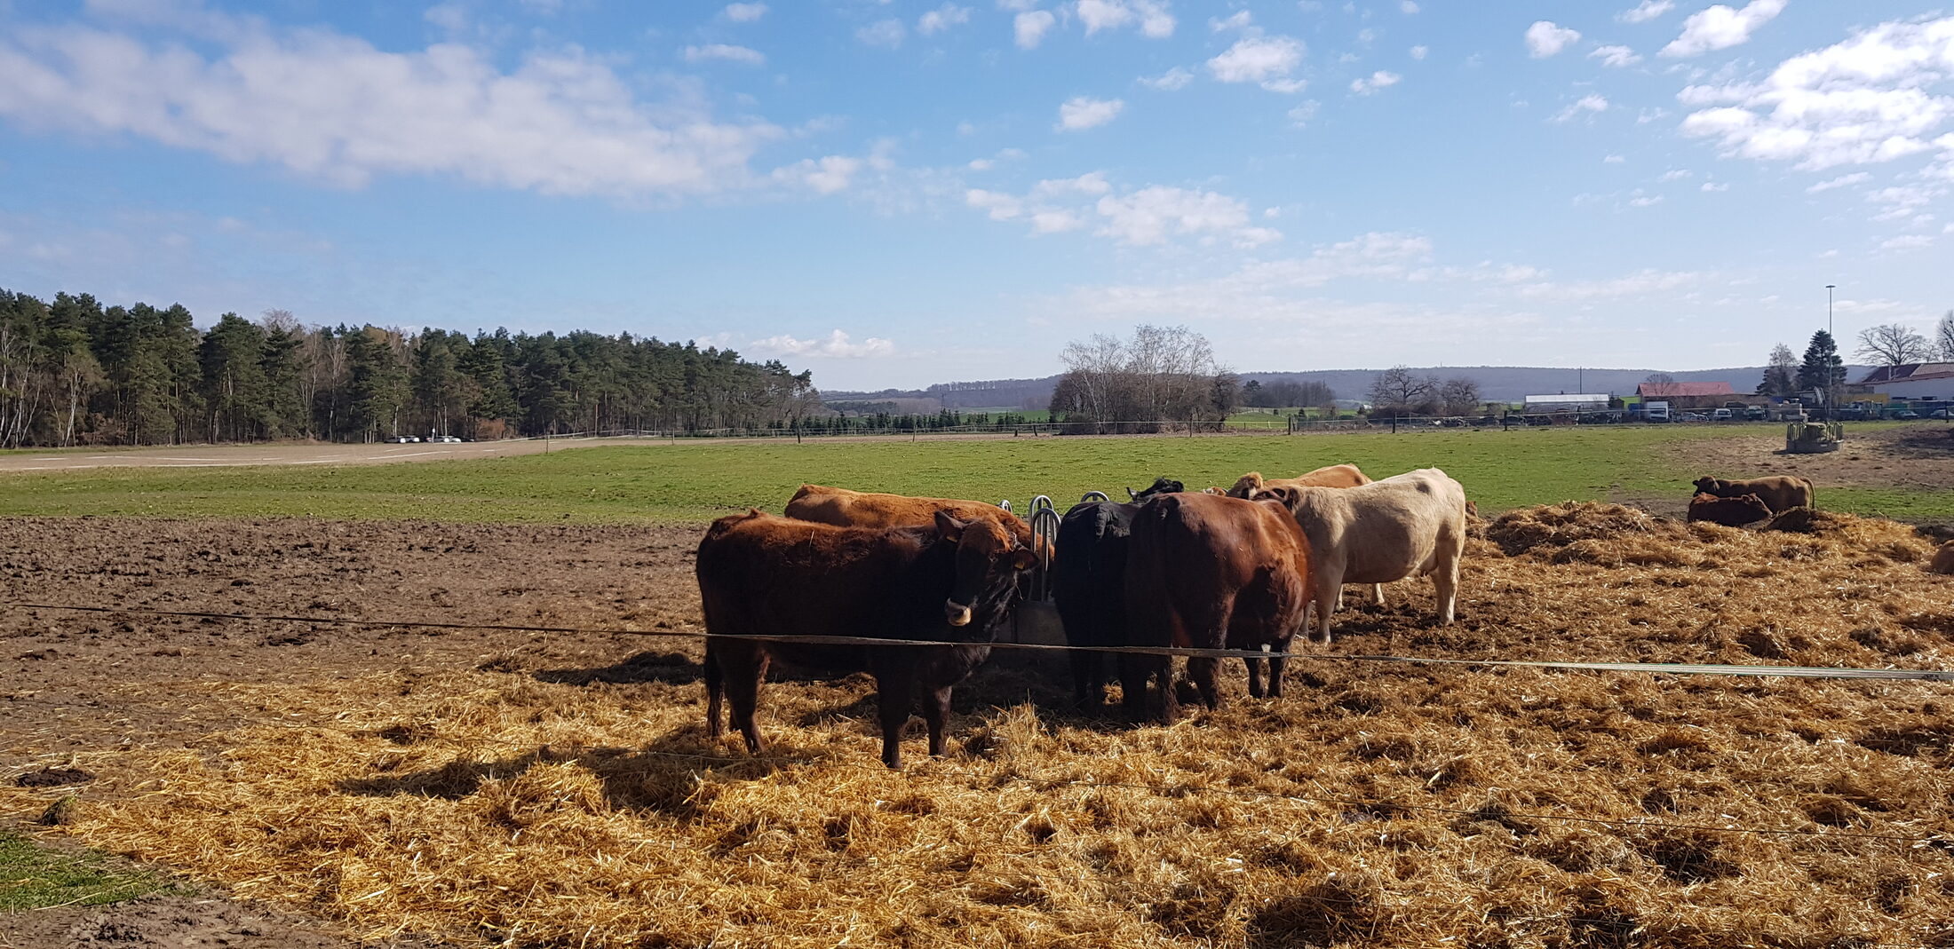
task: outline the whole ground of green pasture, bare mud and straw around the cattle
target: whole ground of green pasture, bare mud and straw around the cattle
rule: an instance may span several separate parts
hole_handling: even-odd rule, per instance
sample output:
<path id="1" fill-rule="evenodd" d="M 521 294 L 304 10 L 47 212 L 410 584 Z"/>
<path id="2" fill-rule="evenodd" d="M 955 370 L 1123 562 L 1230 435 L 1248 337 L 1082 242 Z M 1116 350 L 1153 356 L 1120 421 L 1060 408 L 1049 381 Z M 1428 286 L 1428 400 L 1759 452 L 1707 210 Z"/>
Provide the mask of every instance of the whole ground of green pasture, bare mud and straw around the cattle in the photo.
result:
<path id="1" fill-rule="evenodd" d="M 16 510 L 152 516 L 0 519 L 6 601 L 317 619 L 0 613 L 20 879 L 53 879 L 37 867 L 78 846 L 154 867 L 82 863 L 107 881 L 92 894 L 193 892 L 0 916 L 0 941 L 182 941 L 172 920 L 190 918 L 233 945 L 319 947 L 1954 939 L 1946 681 L 1358 658 L 1944 670 L 1954 605 L 1933 531 L 1835 512 L 1770 521 L 1786 529 L 1680 519 L 1696 476 L 1798 471 L 1829 508 L 1850 473 L 1915 471 L 1907 453 L 1931 445 L 1880 449 L 1874 430 L 1858 455 L 1798 469 L 1768 453 L 1704 467 L 1706 445 L 1741 437 L 1632 435 L 1694 445 L 1665 474 L 1624 432 L 1510 435 L 10 476 Z M 1596 435 L 1618 437 L 1614 476 L 1579 463 L 1608 445 Z M 1501 457 L 1512 443 L 1542 453 Z M 1026 496 L 1057 480 L 1040 451 L 1081 469 L 1047 488 L 1061 500 L 1155 467 L 1192 488 L 1315 461 L 1381 476 L 1417 455 L 1503 514 L 1469 523 L 1456 623 L 1434 623 L 1424 580 L 1391 584 L 1387 605 L 1350 596 L 1335 646 L 1296 642 L 1280 697 L 1251 697 L 1223 662 L 1219 709 L 1133 726 L 1118 685 L 1077 709 L 1063 662 L 1000 650 L 957 685 L 948 754 L 924 758 L 913 721 L 901 771 L 877 760 L 866 674 L 776 670 L 764 756 L 707 734 L 694 512 L 778 510 L 801 480 Z M 658 461 L 674 457 L 705 467 Z M 1833 461 L 1858 469 L 1811 467 Z M 1942 512 L 1946 469 L 1917 471 L 1890 490 Z M 1673 516 L 1606 502 L 1634 490 Z M 1520 504 L 1540 492 L 1594 500 Z M 287 504 L 334 517 L 238 517 Z"/>

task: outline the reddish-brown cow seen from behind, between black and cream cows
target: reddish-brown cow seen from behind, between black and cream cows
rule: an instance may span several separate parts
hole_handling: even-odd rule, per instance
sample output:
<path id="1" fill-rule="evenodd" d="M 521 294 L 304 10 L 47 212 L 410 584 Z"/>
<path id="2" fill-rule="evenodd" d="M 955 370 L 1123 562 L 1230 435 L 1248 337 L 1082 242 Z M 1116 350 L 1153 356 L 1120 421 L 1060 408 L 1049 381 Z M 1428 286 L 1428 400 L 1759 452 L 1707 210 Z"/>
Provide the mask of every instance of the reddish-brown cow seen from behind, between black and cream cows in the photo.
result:
<path id="1" fill-rule="evenodd" d="M 1163 494 L 1139 508 L 1126 564 L 1129 642 L 1182 648 L 1270 646 L 1268 693 L 1282 695 L 1290 640 L 1309 623 L 1309 541 L 1274 502 Z M 1321 605 L 1319 605 L 1321 609 Z M 1219 660 L 1190 658 L 1188 678 L 1210 709 Z M 1262 695 L 1262 660 L 1247 660 L 1249 693 Z M 1147 680 L 1161 681 L 1161 717 L 1178 703 L 1168 656 L 1120 654 L 1127 713 L 1145 717 Z"/>

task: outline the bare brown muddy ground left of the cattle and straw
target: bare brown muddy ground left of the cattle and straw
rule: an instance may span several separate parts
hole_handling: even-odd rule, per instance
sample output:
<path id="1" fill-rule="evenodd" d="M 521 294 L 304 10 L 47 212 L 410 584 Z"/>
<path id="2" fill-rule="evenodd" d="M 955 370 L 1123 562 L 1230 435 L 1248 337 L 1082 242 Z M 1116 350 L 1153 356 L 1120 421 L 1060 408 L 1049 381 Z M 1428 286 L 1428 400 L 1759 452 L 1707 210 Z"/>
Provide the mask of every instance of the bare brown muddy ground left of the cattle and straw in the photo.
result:
<path id="1" fill-rule="evenodd" d="M 338 521 L 0 521 L 0 601 L 440 623 L 696 625 L 698 527 Z M 645 637 L 242 623 L 0 609 L 0 781 L 121 744 L 172 748 L 262 721 L 180 683 L 320 681 L 487 662 L 565 680 Z M 33 814 L 6 814 L 14 824 Z M 336 947 L 340 928 L 221 894 L 0 916 L 0 947 Z M 397 943 L 422 945 L 422 943 Z"/>

